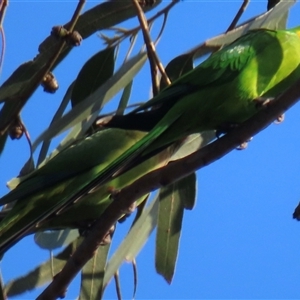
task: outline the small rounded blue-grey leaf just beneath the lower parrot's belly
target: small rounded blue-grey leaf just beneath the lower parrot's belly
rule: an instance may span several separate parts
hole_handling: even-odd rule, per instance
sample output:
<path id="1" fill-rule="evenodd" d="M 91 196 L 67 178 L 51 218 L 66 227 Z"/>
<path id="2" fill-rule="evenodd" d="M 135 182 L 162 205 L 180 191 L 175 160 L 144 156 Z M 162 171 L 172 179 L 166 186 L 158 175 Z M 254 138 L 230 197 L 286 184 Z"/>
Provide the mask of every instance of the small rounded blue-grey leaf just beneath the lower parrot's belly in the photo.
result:
<path id="1" fill-rule="evenodd" d="M 70 244 L 78 237 L 77 229 L 64 229 L 37 232 L 34 235 L 34 241 L 42 249 L 54 250 Z"/>

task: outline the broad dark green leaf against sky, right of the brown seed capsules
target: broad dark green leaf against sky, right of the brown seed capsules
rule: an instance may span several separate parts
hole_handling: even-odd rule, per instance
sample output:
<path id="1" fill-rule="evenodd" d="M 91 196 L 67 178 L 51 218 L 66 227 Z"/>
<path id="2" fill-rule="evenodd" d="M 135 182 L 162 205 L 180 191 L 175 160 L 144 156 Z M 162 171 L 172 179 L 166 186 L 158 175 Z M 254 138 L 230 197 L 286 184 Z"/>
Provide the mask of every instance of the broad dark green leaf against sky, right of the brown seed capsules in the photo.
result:
<path id="1" fill-rule="evenodd" d="M 72 91 L 72 106 L 80 103 L 105 83 L 114 73 L 115 47 L 109 47 L 92 56 L 80 70 Z"/>

